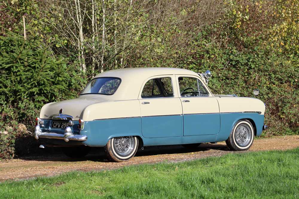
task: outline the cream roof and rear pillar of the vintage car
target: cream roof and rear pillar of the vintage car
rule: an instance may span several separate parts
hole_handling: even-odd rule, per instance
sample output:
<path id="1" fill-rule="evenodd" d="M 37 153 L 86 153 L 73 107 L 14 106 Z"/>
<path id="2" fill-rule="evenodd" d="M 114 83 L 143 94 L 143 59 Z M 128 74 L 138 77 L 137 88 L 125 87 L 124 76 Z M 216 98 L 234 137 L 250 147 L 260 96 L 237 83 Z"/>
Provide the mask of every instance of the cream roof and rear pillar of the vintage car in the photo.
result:
<path id="1" fill-rule="evenodd" d="M 123 68 L 111 71 L 106 71 L 96 75 L 97 77 L 118 77 L 121 79 L 120 86 L 113 95 L 82 95 L 80 97 L 99 97 L 107 100 L 136 100 L 143 82 L 157 75 L 195 75 L 200 77 L 197 73 L 182 69 L 182 68 Z"/>

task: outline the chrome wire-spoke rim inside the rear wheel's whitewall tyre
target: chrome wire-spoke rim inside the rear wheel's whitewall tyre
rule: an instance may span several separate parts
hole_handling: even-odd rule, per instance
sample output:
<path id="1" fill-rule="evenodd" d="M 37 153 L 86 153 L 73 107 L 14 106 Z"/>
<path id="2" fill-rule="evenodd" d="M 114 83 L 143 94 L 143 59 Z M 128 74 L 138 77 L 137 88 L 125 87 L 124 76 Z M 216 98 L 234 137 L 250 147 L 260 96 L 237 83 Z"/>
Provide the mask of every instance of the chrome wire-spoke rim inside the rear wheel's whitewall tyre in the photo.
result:
<path id="1" fill-rule="evenodd" d="M 120 156 L 127 156 L 128 154 L 131 154 L 135 148 L 133 136 L 116 137 L 113 139 L 112 144 L 115 152 Z"/>

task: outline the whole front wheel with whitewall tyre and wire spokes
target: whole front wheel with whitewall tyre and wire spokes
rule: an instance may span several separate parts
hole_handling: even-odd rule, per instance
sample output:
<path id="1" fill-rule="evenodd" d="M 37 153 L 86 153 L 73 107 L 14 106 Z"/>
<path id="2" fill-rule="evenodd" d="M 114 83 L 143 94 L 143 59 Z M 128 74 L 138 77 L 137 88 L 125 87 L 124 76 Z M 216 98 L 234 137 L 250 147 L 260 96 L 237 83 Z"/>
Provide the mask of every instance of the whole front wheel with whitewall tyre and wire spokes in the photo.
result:
<path id="1" fill-rule="evenodd" d="M 239 120 L 235 123 L 225 143 L 231 150 L 245 151 L 251 147 L 253 139 L 254 130 L 251 122 L 248 120 Z"/>

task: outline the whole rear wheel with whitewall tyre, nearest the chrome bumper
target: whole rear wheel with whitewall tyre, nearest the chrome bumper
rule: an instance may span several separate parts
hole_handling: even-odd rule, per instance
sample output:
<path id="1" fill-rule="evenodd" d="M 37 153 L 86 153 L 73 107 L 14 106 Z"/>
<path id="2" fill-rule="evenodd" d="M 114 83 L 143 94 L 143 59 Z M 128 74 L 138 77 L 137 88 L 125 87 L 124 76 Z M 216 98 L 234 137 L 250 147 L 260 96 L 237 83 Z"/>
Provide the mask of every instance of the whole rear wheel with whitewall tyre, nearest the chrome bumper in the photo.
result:
<path id="1" fill-rule="evenodd" d="M 114 137 L 104 147 L 109 159 L 115 162 L 124 162 L 131 159 L 138 150 L 136 136 Z"/>

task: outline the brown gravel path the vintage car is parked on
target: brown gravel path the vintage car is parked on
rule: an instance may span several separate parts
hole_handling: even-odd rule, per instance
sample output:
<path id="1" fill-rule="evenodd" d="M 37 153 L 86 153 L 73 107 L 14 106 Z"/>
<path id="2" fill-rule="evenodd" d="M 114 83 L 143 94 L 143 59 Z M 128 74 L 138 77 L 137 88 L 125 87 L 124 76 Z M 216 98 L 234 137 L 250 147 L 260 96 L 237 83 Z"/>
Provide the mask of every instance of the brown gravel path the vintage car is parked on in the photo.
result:
<path id="1" fill-rule="evenodd" d="M 280 136 L 254 140 L 249 151 L 285 150 L 299 147 L 299 135 Z M 51 156 L 24 157 L 8 161 L 0 161 L 0 181 L 28 179 L 37 176 L 53 176 L 68 171 L 91 171 L 102 169 L 115 169 L 127 165 L 179 162 L 203 157 L 221 156 L 229 151 L 224 142 L 218 144 L 202 144 L 190 151 L 180 145 L 145 147 L 138 151 L 129 162 L 114 163 L 106 160 L 102 149 L 93 151 L 83 159 L 70 159 L 63 154 Z"/>

